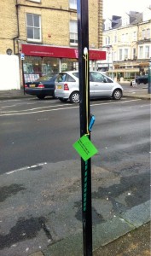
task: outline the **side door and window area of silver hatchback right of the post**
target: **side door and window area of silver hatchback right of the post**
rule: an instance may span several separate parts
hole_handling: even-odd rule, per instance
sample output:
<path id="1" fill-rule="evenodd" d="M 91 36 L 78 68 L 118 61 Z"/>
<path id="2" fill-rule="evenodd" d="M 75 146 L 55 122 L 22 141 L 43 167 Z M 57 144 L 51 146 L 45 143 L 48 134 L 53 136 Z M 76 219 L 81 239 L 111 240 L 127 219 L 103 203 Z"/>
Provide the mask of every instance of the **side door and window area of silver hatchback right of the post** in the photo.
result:
<path id="1" fill-rule="evenodd" d="M 113 80 L 99 72 L 90 72 L 91 87 L 93 87 L 95 97 L 112 96 Z"/>

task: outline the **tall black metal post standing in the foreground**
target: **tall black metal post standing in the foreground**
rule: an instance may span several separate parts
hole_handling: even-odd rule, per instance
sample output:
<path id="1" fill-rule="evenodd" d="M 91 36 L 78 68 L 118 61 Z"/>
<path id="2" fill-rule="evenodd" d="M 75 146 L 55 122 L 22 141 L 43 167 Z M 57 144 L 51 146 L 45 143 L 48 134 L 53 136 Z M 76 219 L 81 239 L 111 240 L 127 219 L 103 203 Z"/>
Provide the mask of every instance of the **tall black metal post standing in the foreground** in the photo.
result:
<path id="1" fill-rule="evenodd" d="M 78 0 L 78 73 L 80 136 L 88 132 L 90 116 L 88 0 Z M 84 256 L 92 255 L 91 161 L 81 159 Z"/>

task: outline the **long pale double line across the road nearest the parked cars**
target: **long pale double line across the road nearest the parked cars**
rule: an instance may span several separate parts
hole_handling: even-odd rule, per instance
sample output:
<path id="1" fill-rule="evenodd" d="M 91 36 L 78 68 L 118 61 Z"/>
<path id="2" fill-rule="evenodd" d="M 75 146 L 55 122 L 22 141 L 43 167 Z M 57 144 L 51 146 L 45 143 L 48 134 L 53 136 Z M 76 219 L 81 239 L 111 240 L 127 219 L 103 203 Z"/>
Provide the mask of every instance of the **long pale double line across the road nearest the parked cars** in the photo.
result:
<path id="1" fill-rule="evenodd" d="M 141 99 L 136 99 L 136 100 L 130 100 L 130 101 L 125 101 L 125 102 L 106 102 L 106 103 L 94 103 L 94 104 L 90 104 L 90 107 L 95 107 L 95 106 L 101 106 L 101 105 L 109 105 L 109 104 L 122 104 L 122 103 L 127 103 L 127 102 L 138 102 L 138 101 L 142 101 Z M 71 104 L 66 104 L 67 105 L 70 105 Z M 56 106 L 52 106 L 52 107 L 59 107 L 59 106 L 62 106 L 62 105 L 56 105 Z M 49 107 L 44 107 L 44 108 L 51 108 L 51 106 Z M 24 114 L 31 114 L 31 113 L 44 113 L 44 112 L 52 112 L 52 111 L 59 111 L 59 110 L 66 110 L 66 109 L 71 109 L 71 108 L 79 108 L 79 105 L 77 106 L 71 106 L 69 108 L 52 108 L 52 109 L 43 109 L 43 110 L 38 110 L 38 111 L 32 111 L 32 112 L 21 112 L 21 113 L 11 113 L 10 112 L 7 112 L 7 113 L 3 113 L 3 114 L 0 114 L 0 116 L 14 116 L 14 115 L 24 115 Z M 32 108 L 31 110 L 33 110 L 35 108 Z M 36 108 L 38 109 L 38 108 Z M 23 110 L 23 111 L 26 111 L 26 110 Z M 28 110 L 30 111 L 30 110 Z"/>

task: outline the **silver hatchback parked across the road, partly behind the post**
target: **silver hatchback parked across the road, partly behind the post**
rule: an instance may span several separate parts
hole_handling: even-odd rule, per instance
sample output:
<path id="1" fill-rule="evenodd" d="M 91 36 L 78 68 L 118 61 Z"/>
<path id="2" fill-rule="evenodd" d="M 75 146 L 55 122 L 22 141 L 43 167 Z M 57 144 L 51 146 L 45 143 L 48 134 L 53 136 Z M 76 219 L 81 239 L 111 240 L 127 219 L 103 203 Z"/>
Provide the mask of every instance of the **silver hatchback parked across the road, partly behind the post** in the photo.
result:
<path id="1" fill-rule="evenodd" d="M 123 88 L 120 84 L 101 72 L 90 72 L 90 99 L 101 97 L 113 97 L 119 100 L 123 96 Z M 79 102 L 78 71 L 59 73 L 55 80 L 55 97 L 61 102 L 68 99 L 72 103 Z"/>

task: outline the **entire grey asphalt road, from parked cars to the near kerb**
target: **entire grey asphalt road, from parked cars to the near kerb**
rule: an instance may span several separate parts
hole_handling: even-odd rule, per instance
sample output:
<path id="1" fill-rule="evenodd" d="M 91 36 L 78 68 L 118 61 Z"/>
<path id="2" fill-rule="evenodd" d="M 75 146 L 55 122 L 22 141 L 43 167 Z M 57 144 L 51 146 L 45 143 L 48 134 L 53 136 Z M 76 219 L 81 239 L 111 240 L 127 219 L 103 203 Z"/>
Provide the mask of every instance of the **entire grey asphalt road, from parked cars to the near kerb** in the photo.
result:
<path id="1" fill-rule="evenodd" d="M 98 224 L 149 200 L 150 105 L 131 98 L 90 105 Z M 79 108 L 48 98 L 2 101 L 0 109 L 0 249 L 2 256 L 23 256 L 80 229 L 80 164 L 72 146 L 79 138 Z M 104 198 L 108 204 L 100 210 Z M 76 218 L 68 224 L 65 216 Z"/>

